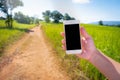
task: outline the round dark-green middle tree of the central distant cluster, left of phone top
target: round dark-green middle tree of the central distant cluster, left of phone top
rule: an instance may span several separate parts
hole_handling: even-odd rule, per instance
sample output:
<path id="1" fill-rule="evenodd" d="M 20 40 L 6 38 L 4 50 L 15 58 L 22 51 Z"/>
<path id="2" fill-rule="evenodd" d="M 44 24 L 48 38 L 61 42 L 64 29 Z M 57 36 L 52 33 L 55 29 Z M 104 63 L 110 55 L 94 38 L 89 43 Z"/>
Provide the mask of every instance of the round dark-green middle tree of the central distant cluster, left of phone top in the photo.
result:
<path id="1" fill-rule="evenodd" d="M 51 18 L 54 20 L 54 23 L 59 23 L 59 21 L 63 19 L 63 15 L 57 10 L 55 10 L 51 13 Z"/>

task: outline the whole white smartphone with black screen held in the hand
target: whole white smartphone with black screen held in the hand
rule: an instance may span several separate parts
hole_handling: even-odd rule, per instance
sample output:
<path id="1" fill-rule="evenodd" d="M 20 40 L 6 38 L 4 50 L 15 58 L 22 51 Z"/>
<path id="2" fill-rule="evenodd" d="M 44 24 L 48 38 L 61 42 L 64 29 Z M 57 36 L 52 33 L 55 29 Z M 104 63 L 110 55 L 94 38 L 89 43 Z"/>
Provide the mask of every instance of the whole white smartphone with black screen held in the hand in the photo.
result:
<path id="1" fill-rule="evenodd" d="M 67 54 L 80 54 L 81 53 L 81 39 L 80 39 L 80 21 L 79 20 L 66 20 L 64 23 L 64 32 L 66 40 L 66 53 Z"/>

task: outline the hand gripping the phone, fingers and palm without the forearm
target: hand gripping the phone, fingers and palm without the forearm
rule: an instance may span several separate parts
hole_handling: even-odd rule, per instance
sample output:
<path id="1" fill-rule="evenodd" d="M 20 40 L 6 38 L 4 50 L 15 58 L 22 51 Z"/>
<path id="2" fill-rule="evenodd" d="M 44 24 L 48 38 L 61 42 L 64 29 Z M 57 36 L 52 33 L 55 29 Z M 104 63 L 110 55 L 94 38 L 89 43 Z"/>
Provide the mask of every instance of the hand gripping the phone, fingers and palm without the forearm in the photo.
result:
<path id="1" fill-rule="evenodd" d="M 94 45 L 94 42 L 92 40 L 92 37 L 88 35 L 88 33 L 85 31 L 83 27 L 80 28 L 81 32 L 81 46 L 82 46 L 82 53 L 77 54 L 78 57 L 84 58 L 86 60 L 90 60 L 90 58 L 96 53 L 97 49 Z M 62 32 L 61 35 L 65 37 L 65 33 Z M 66 50 L 65 46 L 65 39 L 62 40 L 62 48 Z"/>

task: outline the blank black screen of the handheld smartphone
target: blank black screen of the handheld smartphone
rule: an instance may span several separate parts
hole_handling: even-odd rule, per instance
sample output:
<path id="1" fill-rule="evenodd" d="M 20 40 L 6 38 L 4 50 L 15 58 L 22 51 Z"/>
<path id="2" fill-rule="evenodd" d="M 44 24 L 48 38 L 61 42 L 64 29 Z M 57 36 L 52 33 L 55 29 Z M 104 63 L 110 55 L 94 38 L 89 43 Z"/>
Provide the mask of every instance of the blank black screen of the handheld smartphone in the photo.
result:
<path id="1" fill-rule="evenodd" d="M 79 24 L 65 25 L 67 50 L 81 49 Z"/>

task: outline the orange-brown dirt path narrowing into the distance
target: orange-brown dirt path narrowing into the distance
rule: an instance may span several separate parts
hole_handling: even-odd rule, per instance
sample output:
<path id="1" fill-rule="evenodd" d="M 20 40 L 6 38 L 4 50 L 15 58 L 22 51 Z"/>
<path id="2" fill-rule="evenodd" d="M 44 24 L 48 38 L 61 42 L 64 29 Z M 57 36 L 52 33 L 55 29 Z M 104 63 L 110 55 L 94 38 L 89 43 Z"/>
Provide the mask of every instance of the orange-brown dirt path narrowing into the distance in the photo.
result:
<path id="1" fill-rule="evenodd" d="M 32 29 L 6 54 L 9 57 L 0 64 L 0 80 L 70 80 L 40 27 Z"/>

